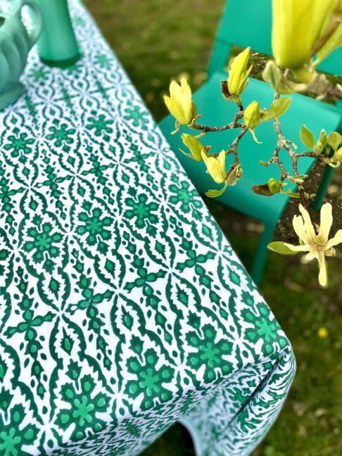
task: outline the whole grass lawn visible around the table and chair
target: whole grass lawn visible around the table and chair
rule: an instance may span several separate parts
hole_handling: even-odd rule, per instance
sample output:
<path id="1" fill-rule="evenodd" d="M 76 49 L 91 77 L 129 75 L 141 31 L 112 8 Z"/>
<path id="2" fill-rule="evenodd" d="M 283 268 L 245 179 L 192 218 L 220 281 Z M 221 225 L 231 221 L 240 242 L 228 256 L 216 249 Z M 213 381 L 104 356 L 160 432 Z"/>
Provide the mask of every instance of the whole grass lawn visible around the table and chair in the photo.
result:
<path id="1" fill-rule="evenodd" d="M 205 80 L 224 0 L 85 3 L 157 120 L 166 114 L 161 95 L 172 77 L 187 72 L 194 89 Z M 220 203 L 206 202 L 248 267 L 258 224 Z M 342 455 L 341 260 L 341 254 L 329 259 L 331 283 L 322 291 L 316 265 L 304 267 L 297 258 L 270 256 L 261 290 L 291 340 L 298 372 L 284 410 L 254 456 Z M 326 338 L 317 334 L 321 327 L 328 331 Z M 144 453 L 191 455 L 191 439 L 179 425 Z"/>

